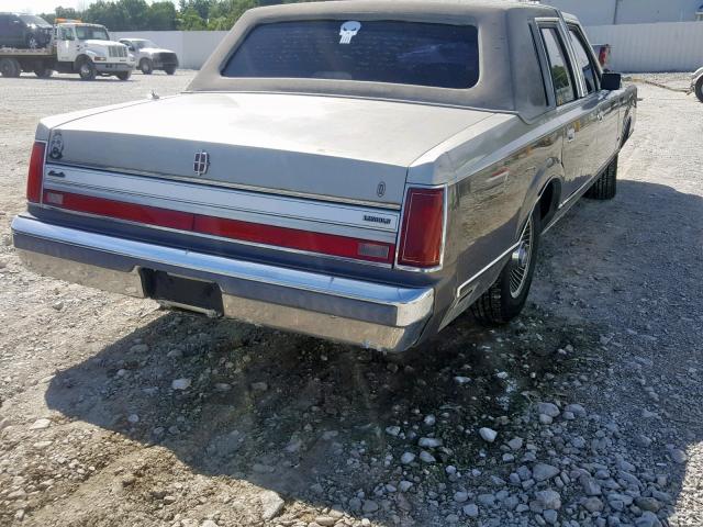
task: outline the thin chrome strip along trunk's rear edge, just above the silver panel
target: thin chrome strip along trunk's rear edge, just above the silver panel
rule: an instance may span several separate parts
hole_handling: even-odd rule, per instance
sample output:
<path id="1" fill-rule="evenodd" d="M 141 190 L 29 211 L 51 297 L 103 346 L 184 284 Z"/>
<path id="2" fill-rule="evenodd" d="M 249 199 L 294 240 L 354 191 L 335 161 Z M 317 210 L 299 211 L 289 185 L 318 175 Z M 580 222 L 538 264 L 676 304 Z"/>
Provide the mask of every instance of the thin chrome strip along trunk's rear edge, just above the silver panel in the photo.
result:
<path id="1" fill-rule="evenodd" d="M 164 172 L 149 172 L 146 170 L 125 170 L 124 168 L 119 168 L 119 167 L 67 164 L 67 162 L 60 162 L 55 160 L 52 160 L 52 165 L 56 167 L 64 167 L 69 169 L 76 168 L 76 169 L 82 169 L 82 170 L 96 170 L 99 172 L 122 173 L 124 176 L 143 176 L 143 177 L 161 179 L 167 181 L 182 181 L 186 183 L 197 183 L 201 187 L 222 187 L 222 188 L 234 189 L 234 190 L 256 192 L 264 195 L 302 198 L 305 200 L 320 201 L 323 203 L 359 205 L 359 206 L 368 206 L 372 209 L 388 209 L 392 211 L 400 211 L 401 209 L 401 205 L 397 203 L 383 203 L 383 202 L 377 202 L 377 201 L 355 200 L 355 199 L 337 198 L 337 197 L 330 197 L 330 195 L 323 195 L 323 194 L 311 194 L 308 192 L 294 192 L 290 190 L 271 189 L 267 187 L 256 187 L 256 186 L 242 184 L 242 183 L 230 183 L 227 181 L 217 181 L 217 180 L 211 180 L 211 179 L 202 180 L 202 179 L 196 179 L 190 177 L 174 176 L 174 175 L 164 173 Z"/>

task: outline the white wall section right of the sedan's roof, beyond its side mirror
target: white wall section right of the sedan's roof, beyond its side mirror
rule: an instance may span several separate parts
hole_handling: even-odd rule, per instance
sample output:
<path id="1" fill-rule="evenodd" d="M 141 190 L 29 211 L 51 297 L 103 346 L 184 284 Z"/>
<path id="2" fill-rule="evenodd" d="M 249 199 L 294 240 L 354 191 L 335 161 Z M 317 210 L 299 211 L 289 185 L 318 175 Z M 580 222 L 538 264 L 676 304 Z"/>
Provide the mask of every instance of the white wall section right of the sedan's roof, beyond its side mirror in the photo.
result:
<path id="1" fill-rule="evenodd" d="M 587 27 L 593 44 L 612 46 L 615 71 L 694 71 L 703 66 L 703 22 Z"/>

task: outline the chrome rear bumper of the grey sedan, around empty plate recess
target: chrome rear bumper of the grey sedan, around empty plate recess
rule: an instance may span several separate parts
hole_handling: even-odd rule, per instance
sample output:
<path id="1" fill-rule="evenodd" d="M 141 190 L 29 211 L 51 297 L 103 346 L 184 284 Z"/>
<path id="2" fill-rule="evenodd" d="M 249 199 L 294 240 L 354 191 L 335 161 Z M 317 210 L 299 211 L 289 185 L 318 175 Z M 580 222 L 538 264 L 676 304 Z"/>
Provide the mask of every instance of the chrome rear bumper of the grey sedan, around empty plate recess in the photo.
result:
<path id="1" fill-rule="evenodd" d="M 384 351 L 416 344 L 434 310 L 433 288 L 415 289 L 234 260 L 89 233 L 21 215 L 12 222 L 25 265 L 69 282 L 145 298 L 141 269 L 217 284 L 224 314 Z"/>

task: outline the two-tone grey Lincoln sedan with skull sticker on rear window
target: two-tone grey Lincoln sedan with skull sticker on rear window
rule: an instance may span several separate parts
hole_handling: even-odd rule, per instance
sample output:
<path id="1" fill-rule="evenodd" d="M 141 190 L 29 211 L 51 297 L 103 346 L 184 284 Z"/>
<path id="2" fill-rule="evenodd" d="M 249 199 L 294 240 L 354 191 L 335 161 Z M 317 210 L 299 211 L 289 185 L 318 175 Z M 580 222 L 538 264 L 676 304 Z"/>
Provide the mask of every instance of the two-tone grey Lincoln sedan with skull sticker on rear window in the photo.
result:
<path id="1" fill-rule="evenodd" d="M 517 316 L 544 232 L 612 199 L 637 89 L 579 21 L 514 2 L 248 11 L 187 91 L 42 120 L 48 276 L 402 351 Z"/>

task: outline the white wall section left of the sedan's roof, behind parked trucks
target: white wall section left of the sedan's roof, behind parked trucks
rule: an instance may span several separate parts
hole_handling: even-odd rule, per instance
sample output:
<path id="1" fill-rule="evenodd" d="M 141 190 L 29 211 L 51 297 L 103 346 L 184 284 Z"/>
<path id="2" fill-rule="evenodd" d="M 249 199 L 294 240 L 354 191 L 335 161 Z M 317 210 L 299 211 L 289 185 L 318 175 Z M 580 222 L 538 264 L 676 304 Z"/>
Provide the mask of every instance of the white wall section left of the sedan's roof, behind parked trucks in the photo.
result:
<path id="1" fill-rule="evenodd" d="M 113 31 L 112 38 L 148 38 L 178 55 L 180 67 L 200 69 L 226 31 Z"/>

